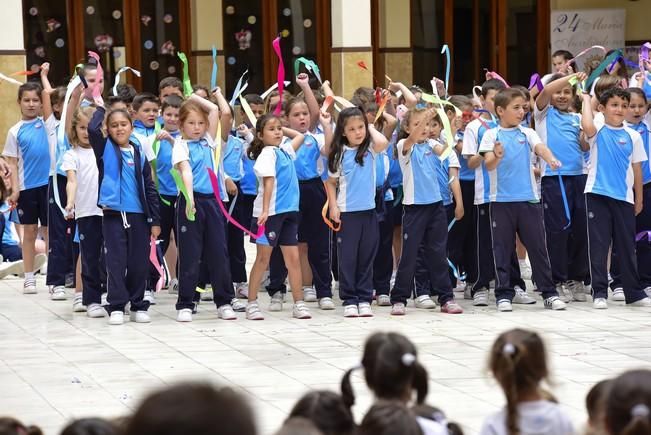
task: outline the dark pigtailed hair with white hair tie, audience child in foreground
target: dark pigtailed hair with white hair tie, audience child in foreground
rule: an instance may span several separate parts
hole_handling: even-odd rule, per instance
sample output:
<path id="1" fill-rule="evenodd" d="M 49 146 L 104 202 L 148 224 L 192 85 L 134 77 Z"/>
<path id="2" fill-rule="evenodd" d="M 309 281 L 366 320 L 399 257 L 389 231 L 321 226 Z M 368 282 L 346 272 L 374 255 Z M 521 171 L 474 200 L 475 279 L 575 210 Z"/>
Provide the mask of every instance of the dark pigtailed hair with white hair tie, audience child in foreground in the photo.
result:
<path id="1" fill-rule="evenodd" d="M 416 359 L 416 346 L 395 332 L 377 332 L 364 345 L 362 367 L 366 385 L 379 399 L 404 400 L 416 390 L 416 403 L 427 397 L 427 370 Z M 341 380 L 341 395 L 346 406 L 353 406 L 355 394 L 350 383 L 354 369 Z"/>

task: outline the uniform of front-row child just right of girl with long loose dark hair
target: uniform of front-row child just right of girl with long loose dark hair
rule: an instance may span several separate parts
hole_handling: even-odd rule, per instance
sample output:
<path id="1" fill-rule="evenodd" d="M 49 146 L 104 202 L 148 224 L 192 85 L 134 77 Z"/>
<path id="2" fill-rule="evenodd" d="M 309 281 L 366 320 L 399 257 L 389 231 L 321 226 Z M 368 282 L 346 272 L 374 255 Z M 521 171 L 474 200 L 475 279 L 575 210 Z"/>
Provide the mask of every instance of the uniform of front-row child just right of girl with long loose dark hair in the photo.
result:
<path id="1" fill-rule="evenodd" d="M 405 140 L 397 144 L 403 180 L 402 255 L 391 291 L 391 303 L 407 303 L 416 271 L 421 244 L 424 243 L 426 267 L 431 289 L 441 306 L 454 299 L 448 275 L 447 217 L 439 188 L 438 142 L 426 140 L 414 144 L 403 154 Z"/>

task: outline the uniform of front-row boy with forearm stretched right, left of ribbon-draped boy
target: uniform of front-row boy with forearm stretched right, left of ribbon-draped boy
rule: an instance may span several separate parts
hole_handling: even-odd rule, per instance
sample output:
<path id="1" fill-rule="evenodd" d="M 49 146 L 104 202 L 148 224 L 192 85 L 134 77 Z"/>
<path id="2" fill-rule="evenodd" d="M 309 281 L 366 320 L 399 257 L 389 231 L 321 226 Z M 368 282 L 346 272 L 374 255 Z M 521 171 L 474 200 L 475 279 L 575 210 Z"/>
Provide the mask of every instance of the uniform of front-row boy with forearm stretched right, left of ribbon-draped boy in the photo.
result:
<path id="1" fill-rule="evenodd" d="M 497 127 L 483 136 L 479 152 L 493 151 L 496 142 L 504 147 L 504 157 L 497 168 L 488 171 L 495 299 L 499 303 L 504 299 L 512 301 L 515 296 L 511 274 L 516 234 L 527 248 L 533 280 L 543 298 L 558 296 L 552 280 L 543 211 L 532 166 L 534 147 L 542 141 L 530 128 Z"/>

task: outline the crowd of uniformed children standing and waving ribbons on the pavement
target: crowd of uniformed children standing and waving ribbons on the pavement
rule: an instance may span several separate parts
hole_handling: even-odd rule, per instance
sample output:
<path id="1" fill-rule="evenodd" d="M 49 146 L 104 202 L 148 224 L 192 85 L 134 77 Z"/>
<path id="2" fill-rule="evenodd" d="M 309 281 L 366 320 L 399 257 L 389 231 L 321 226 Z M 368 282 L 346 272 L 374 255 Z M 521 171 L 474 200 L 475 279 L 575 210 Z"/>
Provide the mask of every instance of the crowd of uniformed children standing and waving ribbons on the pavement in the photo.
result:
<path id="1" fill-rule="evenodd" d="M 470 96 L 390 82 L 348 101 L 301 73 L 295 96 L 230 103 L 219 88 L 184 95 L 174 77 L 159 96 L 119 85 L 104 101 L 96 62 L 56 89 L 44 64 L 42 88 L 19 88 L 2 163 L 24 293 L 36 292 L 40 223 L 52 299 L 66 298 L 77 263 L 75 311 L 110 324 L 125 310 L 149 322 L 164 282 L 178 321 L 209 286 L 219 318 L 261 320 L 267 271 L 269 310 L 282 310 L 287 280 L 299 319 L 306 302 L 335 308 L 333 278 L 346 317 L 373 316 L 374 301 L 404 315 L 412 297 L 431 309 L 434 296 L 458 314 L 455 288 L 487 306 L 493 285 L 497 310 L 511 311 L 536 303 L 523 278 L 552 310 L 586 293 L 607 308 L 609 285 L 614 300 L 650 307 L 650 74 L 623 89 L 605 72 L 591 94 L 571 61 L 555 53 L 557 72 L 532 89 L 488 73 Z M 257 249 L 248 279 L 245 231 Z"/>

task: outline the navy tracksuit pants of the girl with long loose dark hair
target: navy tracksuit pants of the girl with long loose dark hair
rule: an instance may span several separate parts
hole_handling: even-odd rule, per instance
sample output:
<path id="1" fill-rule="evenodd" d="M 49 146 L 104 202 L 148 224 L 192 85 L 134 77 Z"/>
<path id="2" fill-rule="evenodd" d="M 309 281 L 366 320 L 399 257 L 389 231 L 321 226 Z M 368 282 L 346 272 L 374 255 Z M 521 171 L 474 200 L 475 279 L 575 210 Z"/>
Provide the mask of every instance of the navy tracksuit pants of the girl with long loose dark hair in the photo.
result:
<path id="1" fill-rule="evenodd" d="M 373 259 L 378 233 L 375 209 L 341 213 L 337 255 L 339 297 L 344 306 L 373 301 Z"/>

